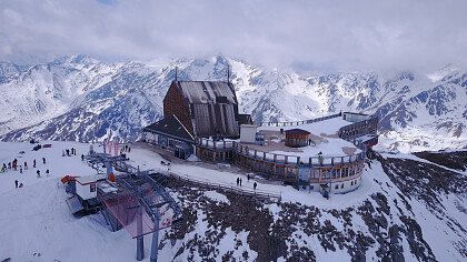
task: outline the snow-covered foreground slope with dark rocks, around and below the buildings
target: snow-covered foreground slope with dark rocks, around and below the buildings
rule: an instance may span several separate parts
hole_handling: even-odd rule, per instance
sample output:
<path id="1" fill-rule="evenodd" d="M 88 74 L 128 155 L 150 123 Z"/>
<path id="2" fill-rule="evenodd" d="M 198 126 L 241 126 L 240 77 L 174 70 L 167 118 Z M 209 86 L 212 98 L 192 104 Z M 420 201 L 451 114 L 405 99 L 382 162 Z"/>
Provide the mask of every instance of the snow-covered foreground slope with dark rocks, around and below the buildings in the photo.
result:
<path id="1" fill-rule="evenodd" d="M 17 158 L 30 167 L 22 174 L 12 170 L 0 174 L 0 261 L 133 261 L 136 241 L 125 230 L 110 232 L 100 214 L 73 218 L 64 202 L 62 175 L 96 173 L 79 157 L 88 144 L 50 143 L 50 149 L 31 151 L 29 143 L 0 142 L 0 163 Z M 61 150 L 71 147 L 78 155 L 61 157 Z M 131 164 L 162 168 L 161 155 L 149 147 L 131 148 Z M 31 161 L 43 157 L 47 163 L 38 161 L 32 169 Z M 464 261 L 467 165 L 459 163 L 467 153 L 419 157 L 381 155 L 365 165 L 358 190 L 329 200 L 256 179 L 258 189 L 280 191 L 282 200 L 261 201 L 230 190 L 169 181 L 165 187 L 182 206 L 183 220 L 160 233 L 159 260 Z M 446 161 L 453 159 L 454 164 Z M 46 169 L 50 178 L 34 175 Z M 171 169 L 217 183 L 242 177 L 242 187 L 252 187 L 252 181 L 230 169 L 181 160 L 172 162 Z M 24 187 L 16 189 L 14 180 Z M 145 261 L 149 261 L 150 241 L 151 235 L 145 236 Z"/>

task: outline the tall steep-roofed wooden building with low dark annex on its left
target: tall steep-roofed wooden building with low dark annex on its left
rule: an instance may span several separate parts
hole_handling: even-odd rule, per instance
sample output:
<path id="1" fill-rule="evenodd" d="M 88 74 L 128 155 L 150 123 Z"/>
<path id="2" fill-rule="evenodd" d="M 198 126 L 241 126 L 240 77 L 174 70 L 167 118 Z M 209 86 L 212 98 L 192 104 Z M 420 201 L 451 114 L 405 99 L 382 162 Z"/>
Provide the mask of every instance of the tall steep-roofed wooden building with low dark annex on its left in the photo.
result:
<path id="1" fill-rule="evenodd" d="M 143 131 L 147 141 L 186 158 L 193 152 L 195 139 L 237 139 L 242 123 L 252 123 L 251 117 L 238 113 L 230 82 L 172 81 L 163 99 L 163 119 Z"/>

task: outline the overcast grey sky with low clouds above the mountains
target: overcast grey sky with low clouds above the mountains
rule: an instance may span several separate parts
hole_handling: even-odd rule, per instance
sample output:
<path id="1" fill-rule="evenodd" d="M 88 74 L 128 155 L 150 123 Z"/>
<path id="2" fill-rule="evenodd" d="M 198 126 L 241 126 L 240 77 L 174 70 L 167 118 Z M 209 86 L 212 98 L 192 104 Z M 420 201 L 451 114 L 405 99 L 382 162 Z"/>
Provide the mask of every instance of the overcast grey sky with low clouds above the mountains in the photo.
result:
<path id="1" fill-rule="evenodd" d="M 0 0 L 0 60 L 222 53 L 296 70 L 467 63 L 466 0 Z"/>

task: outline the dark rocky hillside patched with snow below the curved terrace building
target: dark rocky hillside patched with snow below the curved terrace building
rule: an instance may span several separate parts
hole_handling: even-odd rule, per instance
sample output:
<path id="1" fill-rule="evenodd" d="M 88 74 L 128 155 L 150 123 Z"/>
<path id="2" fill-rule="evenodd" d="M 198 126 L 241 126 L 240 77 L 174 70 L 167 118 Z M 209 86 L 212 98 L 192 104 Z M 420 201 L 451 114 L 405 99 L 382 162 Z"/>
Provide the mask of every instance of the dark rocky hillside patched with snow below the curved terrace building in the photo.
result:
<path id="1" fill-rule="evenodd" d="M 439 223 L 448 221 L 459 241 L 447 244 L 465 253 L 467 232 L 443 206 L 444 195 L 463 194 L 465 175 L 414 160 L 378 157 L 371 165 L 374 172 L 385 172 L 366 174 L 375 177 L 379 192 L 344 209 L 274 203 L 217 190 L 228 198 L 226 203 L 205 195 L 212 189 L 170 181 L 185 221 L 165 233 L 160 248 L 170 245 L 175 261 L 322 261 L 332 254 L 346 261 L 449 260 L 435 255 L 424 236 L 431 229 L 420 223 L 416 204 L 435 212 Z M 234 243 L 228 251 L 221 248 L 226 239 Z"/>

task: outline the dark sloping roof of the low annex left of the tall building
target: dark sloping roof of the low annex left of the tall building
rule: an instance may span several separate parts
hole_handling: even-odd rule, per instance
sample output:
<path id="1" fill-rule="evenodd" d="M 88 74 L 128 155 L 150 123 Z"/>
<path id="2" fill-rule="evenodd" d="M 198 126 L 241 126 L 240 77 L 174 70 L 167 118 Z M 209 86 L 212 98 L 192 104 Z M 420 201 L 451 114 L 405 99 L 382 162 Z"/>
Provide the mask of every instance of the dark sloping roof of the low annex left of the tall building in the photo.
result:
<path id="1" fill-rule="evenodd" d="M 168 137 L 172 137 L 186 141 L 195 141 L 195 138 L 183 127 L 183 124 L 177 119 L 177 117 L 167 117 L 156 123 L 152 123 L 145 128 L 145 131 L 162 133 Z"/>

